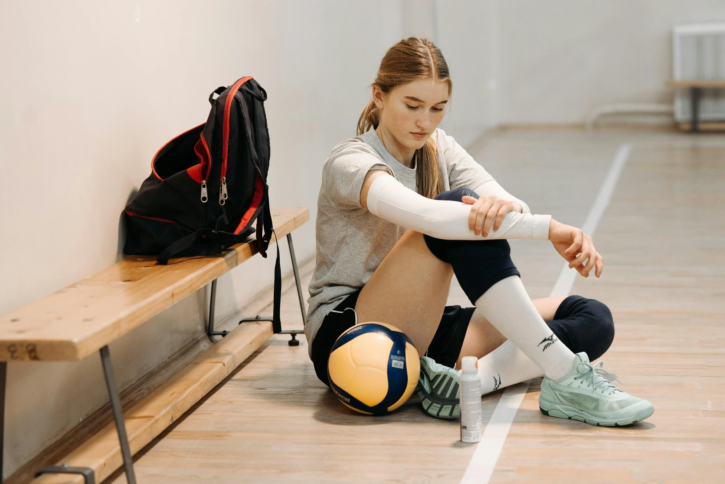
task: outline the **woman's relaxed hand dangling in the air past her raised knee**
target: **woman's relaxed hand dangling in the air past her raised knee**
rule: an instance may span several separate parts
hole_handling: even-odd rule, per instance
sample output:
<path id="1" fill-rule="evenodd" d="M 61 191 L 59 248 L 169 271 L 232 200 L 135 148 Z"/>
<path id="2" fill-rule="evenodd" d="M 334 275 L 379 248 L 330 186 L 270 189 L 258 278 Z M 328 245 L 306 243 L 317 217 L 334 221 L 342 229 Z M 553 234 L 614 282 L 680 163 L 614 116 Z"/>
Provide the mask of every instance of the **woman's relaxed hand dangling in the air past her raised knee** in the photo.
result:
<path id="1" fill-rule="evenodd" d="M 604 258 L 595 249 L 592 238 L 580 228 L 565 225 L 552 219 L 549 225 L 549 240 L 554 249 L 585 278 L 589 277 L 592 267 L 597 278 L 602 275 Z"/>

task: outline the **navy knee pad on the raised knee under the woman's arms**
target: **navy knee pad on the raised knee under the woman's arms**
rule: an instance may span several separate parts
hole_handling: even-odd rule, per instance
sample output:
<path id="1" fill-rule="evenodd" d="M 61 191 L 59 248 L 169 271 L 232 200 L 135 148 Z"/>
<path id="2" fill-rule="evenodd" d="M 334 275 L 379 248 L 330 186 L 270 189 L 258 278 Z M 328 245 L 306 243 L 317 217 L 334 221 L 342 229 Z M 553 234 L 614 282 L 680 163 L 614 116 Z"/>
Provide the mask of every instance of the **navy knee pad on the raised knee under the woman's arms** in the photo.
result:
<path id="1" fill-rule="evenodd" d="M 436 200 L 461 201 L 463 196 L 479 196 L 468 188 L 444 191 Z M 494 241 L 447 241 L 423 235 L 431 253 L 453 267 L 455 277 L 471 303 L 484 295 L 492 285 L 518 275 L 511 260 L 511 248 L 505 239 Z"/>

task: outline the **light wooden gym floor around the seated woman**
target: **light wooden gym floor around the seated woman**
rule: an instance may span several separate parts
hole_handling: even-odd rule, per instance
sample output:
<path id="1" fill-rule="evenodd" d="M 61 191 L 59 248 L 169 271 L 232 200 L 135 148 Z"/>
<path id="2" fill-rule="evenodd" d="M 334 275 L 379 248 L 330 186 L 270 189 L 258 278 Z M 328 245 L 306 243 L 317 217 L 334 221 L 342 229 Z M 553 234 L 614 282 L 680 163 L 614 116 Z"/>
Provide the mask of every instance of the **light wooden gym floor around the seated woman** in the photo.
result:
<path id="1" fill-rule="evenodd" d="M 655 414 L 625 428 L 545 417 L 534 380 L 492 483 L 725 482 L 725 136 L 502 131 L 472 154 L 533 212 L 581 225 L 622 143 L 631 155 L 595 233 L 604 274 L 571 293 L 610 306 L 605 369 Z M 548 296 L 561 259 L 549 243 L 512 246 L 529 295 Z M 469 305 L 457 287 L 450 301 Z M 283 321 L 299 320 L 293 288 Z M 460 483 L 475 444 L 458 441 L 457 422 L 415 404 L 355 414 L 317 380 L 304 338 L 288 338 L 271 338 L 146 446 L 138 482 Z M 484 422 L 501 394 L 484 396 Z"/>

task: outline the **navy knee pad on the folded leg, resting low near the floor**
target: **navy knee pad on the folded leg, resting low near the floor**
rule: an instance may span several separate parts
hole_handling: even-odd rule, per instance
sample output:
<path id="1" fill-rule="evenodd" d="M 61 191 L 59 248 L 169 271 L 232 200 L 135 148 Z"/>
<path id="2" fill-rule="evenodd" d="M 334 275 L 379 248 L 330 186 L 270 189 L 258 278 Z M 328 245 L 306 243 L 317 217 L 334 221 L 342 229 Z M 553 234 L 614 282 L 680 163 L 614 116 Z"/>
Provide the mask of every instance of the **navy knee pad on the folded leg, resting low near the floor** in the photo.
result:
<path id="1" fill-rule="evenodd" d="M 612 312 L 596 299 L 569 296 L 547 325 L 573 353 L 586 351 L 589 361 L 605 354 L 614 340 Z"/>

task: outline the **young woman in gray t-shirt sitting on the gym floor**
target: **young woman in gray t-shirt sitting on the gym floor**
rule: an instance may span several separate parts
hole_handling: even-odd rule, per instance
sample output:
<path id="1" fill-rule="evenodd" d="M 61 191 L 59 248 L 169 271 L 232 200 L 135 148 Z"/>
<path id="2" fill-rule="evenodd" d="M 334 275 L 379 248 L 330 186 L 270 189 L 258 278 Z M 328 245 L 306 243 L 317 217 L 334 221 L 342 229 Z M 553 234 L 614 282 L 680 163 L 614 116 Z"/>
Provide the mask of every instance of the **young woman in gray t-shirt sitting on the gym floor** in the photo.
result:
<path id="1" fill-rule="evenodd" d="M 441 51 L 407 38 L 383 58 L 357 136 L 332 150 L 318 198 L 317 266 L 305 327 L 328 384 L 338 336 L 357 320 L 389 322 L 421 357 L 416 391 L 428 414 L 456 418 L 463 356 L 479 359 L 484 393 L 544 377 L 539 406 L 552 417 L 627 425 L 653 405 L 593 367 L 609 348 L 607 306 L 581 296 L 531 301 L 507 238 L 551 241 L 581 275 L 602 256 L 578 228 L 534 215 L 455 140 L 436 129 L 452 82 Z M 475 307 L 446 306 L 452 275 Z"/>

